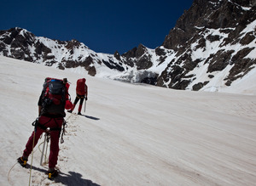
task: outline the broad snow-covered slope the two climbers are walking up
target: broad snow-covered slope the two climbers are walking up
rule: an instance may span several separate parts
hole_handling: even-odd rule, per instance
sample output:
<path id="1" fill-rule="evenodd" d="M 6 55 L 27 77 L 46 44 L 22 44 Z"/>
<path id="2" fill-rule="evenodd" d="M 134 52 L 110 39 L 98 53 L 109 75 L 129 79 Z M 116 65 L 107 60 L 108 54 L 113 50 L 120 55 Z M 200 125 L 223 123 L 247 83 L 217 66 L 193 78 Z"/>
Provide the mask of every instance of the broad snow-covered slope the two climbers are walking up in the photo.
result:
<path id="1" fill-rule="evenodd" d="M 0 66 L 0 185 L 28 185 L 29 169 L 15 163 L 38 116 L 44 78 L 67 77 L 74 99 L 84 76 L 3 56 Z M 42 138 L 31 185 L 255 185 L 255 95 L 85 77 L 85 116 L 67 113 L 60 177 L 52 183 L 40 166 Z"/>

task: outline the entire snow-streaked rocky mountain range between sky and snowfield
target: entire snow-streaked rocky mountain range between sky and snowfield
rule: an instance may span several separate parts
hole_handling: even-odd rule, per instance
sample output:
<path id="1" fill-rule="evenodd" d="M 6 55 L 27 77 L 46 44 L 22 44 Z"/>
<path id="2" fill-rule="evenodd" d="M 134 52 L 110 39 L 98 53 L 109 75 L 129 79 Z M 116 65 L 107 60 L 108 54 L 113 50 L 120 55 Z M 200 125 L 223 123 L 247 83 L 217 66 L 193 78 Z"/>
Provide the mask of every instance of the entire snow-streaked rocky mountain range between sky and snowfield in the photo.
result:
<path id="1" fill-rule="evenodd" d="M 158 48 L 97 54 L 83 43 L 0 31 L 0 54 L 90 76 L 175 89 L 231 86 L 256 65 L 256 1 L 195 0 Z M 103 73 L 102 73 L 103 72 Z"/>

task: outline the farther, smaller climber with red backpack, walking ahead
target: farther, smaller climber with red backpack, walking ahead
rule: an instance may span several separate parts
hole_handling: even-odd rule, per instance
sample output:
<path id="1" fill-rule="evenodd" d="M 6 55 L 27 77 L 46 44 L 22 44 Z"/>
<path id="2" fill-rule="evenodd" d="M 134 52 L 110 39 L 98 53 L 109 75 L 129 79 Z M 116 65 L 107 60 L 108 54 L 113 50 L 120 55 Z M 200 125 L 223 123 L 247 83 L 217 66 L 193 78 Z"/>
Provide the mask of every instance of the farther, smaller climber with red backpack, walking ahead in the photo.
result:
<path id="1" fill-rule="evenodd" d="M 77 81 L 77 87 L 76 87 L 76 93 L 77 93 L 77 96 L 76 96 L 76 99 L 74 100 L 74 103 L 73 103 L 73 108 L 71 110 L 67 110 L 68 112 L 72 113 L 76 104 L 79 102 L 79 112 L 78 112 L 78 115 L 82 115 L 81 114 L 81 110 L 82 110 L 82 106 L 83 106 L 83 103 L 84 103 L 84 99 L 85 99 L 85 103 L 88 99 L 88 87 L 87 85 L 85 84 L 86 80 L 85 78 L 82 78 L 82 79 L 79 79 Z"/>

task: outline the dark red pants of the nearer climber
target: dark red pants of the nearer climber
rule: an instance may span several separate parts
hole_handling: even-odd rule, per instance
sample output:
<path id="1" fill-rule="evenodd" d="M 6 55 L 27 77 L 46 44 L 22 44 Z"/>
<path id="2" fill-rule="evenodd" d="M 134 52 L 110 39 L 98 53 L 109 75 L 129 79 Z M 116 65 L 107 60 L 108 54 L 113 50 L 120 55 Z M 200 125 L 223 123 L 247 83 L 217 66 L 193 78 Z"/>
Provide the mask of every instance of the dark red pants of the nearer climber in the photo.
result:
<path id="1" fill-rule="evenodd" d="M 63 118 L 50 118 L 47 116 L 40 116 L 38 122 L 44 127 L 49 128 L 61 128 L 63 123 Z M 35 141 L 34 147 L 38 144 L 38 139 L 40 138 L 41 134 L 45 132 L 44 129 L 37 127 L 35 132 Z M 59 155 L 59 138 L 60 138 L 61 131 L 51 131 L 50 132 L 50 147 L 49 147 L 49 168 L 55 168 L 58 155 Z M 34 132 L 32 132 L 31 137 L 28 139 L 26 143 L 26 149 L 23 151 L 23 157 L 28 157 L 32 153 L 32 144 L 33 144 L 33 137 Z"/>

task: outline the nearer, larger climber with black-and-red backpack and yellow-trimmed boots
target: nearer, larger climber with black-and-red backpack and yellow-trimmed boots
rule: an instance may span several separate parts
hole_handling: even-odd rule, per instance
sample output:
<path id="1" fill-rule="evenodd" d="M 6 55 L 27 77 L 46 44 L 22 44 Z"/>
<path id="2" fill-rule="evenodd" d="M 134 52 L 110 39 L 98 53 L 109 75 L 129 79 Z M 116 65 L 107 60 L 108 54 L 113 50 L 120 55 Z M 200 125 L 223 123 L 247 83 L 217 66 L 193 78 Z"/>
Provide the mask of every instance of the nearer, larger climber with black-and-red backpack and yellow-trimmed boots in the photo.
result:
<path id="1" fill-rule="evenodd" d="M 38 118 L 32 123 L 34 131 L 26 143 L 23 155 L 17 159 L 21 166 L 26 166 L 28 156 L 38 144 L 41 134 L 48 132 L 50 135 L 49 179 L 55 178 L 58 175 L 55 166 L 59 155 L 61 127 L 62 125 L 64 127 L 66 124 L 64 120 L 66 116 L 65 109 L 69 110 L 73 107 L 69 98 L 68 87 L 67 78 L 63 80 L 50 77 L 45 78 L 43 90 L 38 100 Z"/>

